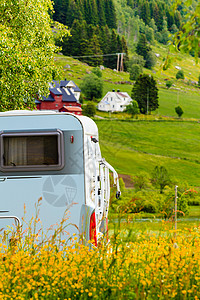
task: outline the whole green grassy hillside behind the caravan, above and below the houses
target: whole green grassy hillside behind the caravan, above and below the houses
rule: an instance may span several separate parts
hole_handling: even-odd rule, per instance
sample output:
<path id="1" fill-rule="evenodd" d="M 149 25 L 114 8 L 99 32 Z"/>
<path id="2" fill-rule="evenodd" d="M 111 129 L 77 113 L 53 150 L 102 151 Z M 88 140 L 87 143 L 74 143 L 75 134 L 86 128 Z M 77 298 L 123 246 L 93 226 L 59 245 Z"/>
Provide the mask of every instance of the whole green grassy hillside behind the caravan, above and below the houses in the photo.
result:
<path id="1" fill-rule="evenodd" d="M 137 121 L 109 120 L 109 114 L 97 113 L 106 117 L 96 119 L 100 132 L 100 144 L 105 158 L 122 174 L 137 174 L 141 170 L 149 173 L 158 164 L 164 165 L 171 176 L 200 186 L 200 89 L 192 83 L 198 81 L 199 65 L 186 55 L 171 54 L 171 67 L 163 71 L 162 66 L 167 56 L 164 46 L 155 46 L 154 52 L 160 56 L 154 70 L 144 70 L 157 80 L 159 88 L 159 109 L 148 120 L 139 116 Z M 57 55 L 57 65 L 61 67 L 63 78 L 72 79 L 79 85 L 91 67 L 73 58 Z M 181 67 L 185 80 L 176 80 L 177 69 Z M 103 70 L 104 95 L 112 89 L 120 89 L 131 94 L 132 84 L 129 74 Z M 167 90 L 166 80 L 173 81 L 173 87 Z M 184 121 L 175 119 L 175 107 L 180 105 L 184 111 Z M 111 115 L 130 119 L 125 114 Z M 174 121 L 163 121 L 173 117 Z M 156 121 L 157 120 L 157 121 Z M 187 121 L 186 121 L 187 120 Z"/>

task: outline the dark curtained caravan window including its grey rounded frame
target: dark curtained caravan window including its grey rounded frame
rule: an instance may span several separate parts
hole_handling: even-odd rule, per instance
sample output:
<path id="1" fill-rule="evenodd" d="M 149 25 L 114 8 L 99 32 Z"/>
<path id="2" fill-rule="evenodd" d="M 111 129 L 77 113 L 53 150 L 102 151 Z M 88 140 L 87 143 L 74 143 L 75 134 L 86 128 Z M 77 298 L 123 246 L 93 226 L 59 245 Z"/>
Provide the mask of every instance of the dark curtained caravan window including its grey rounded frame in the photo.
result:
<path id="1" fill-rule="evenodd" d="M 62 167 L 61 131 L 1 134 L 1 169 L 58 170 Z"/>

